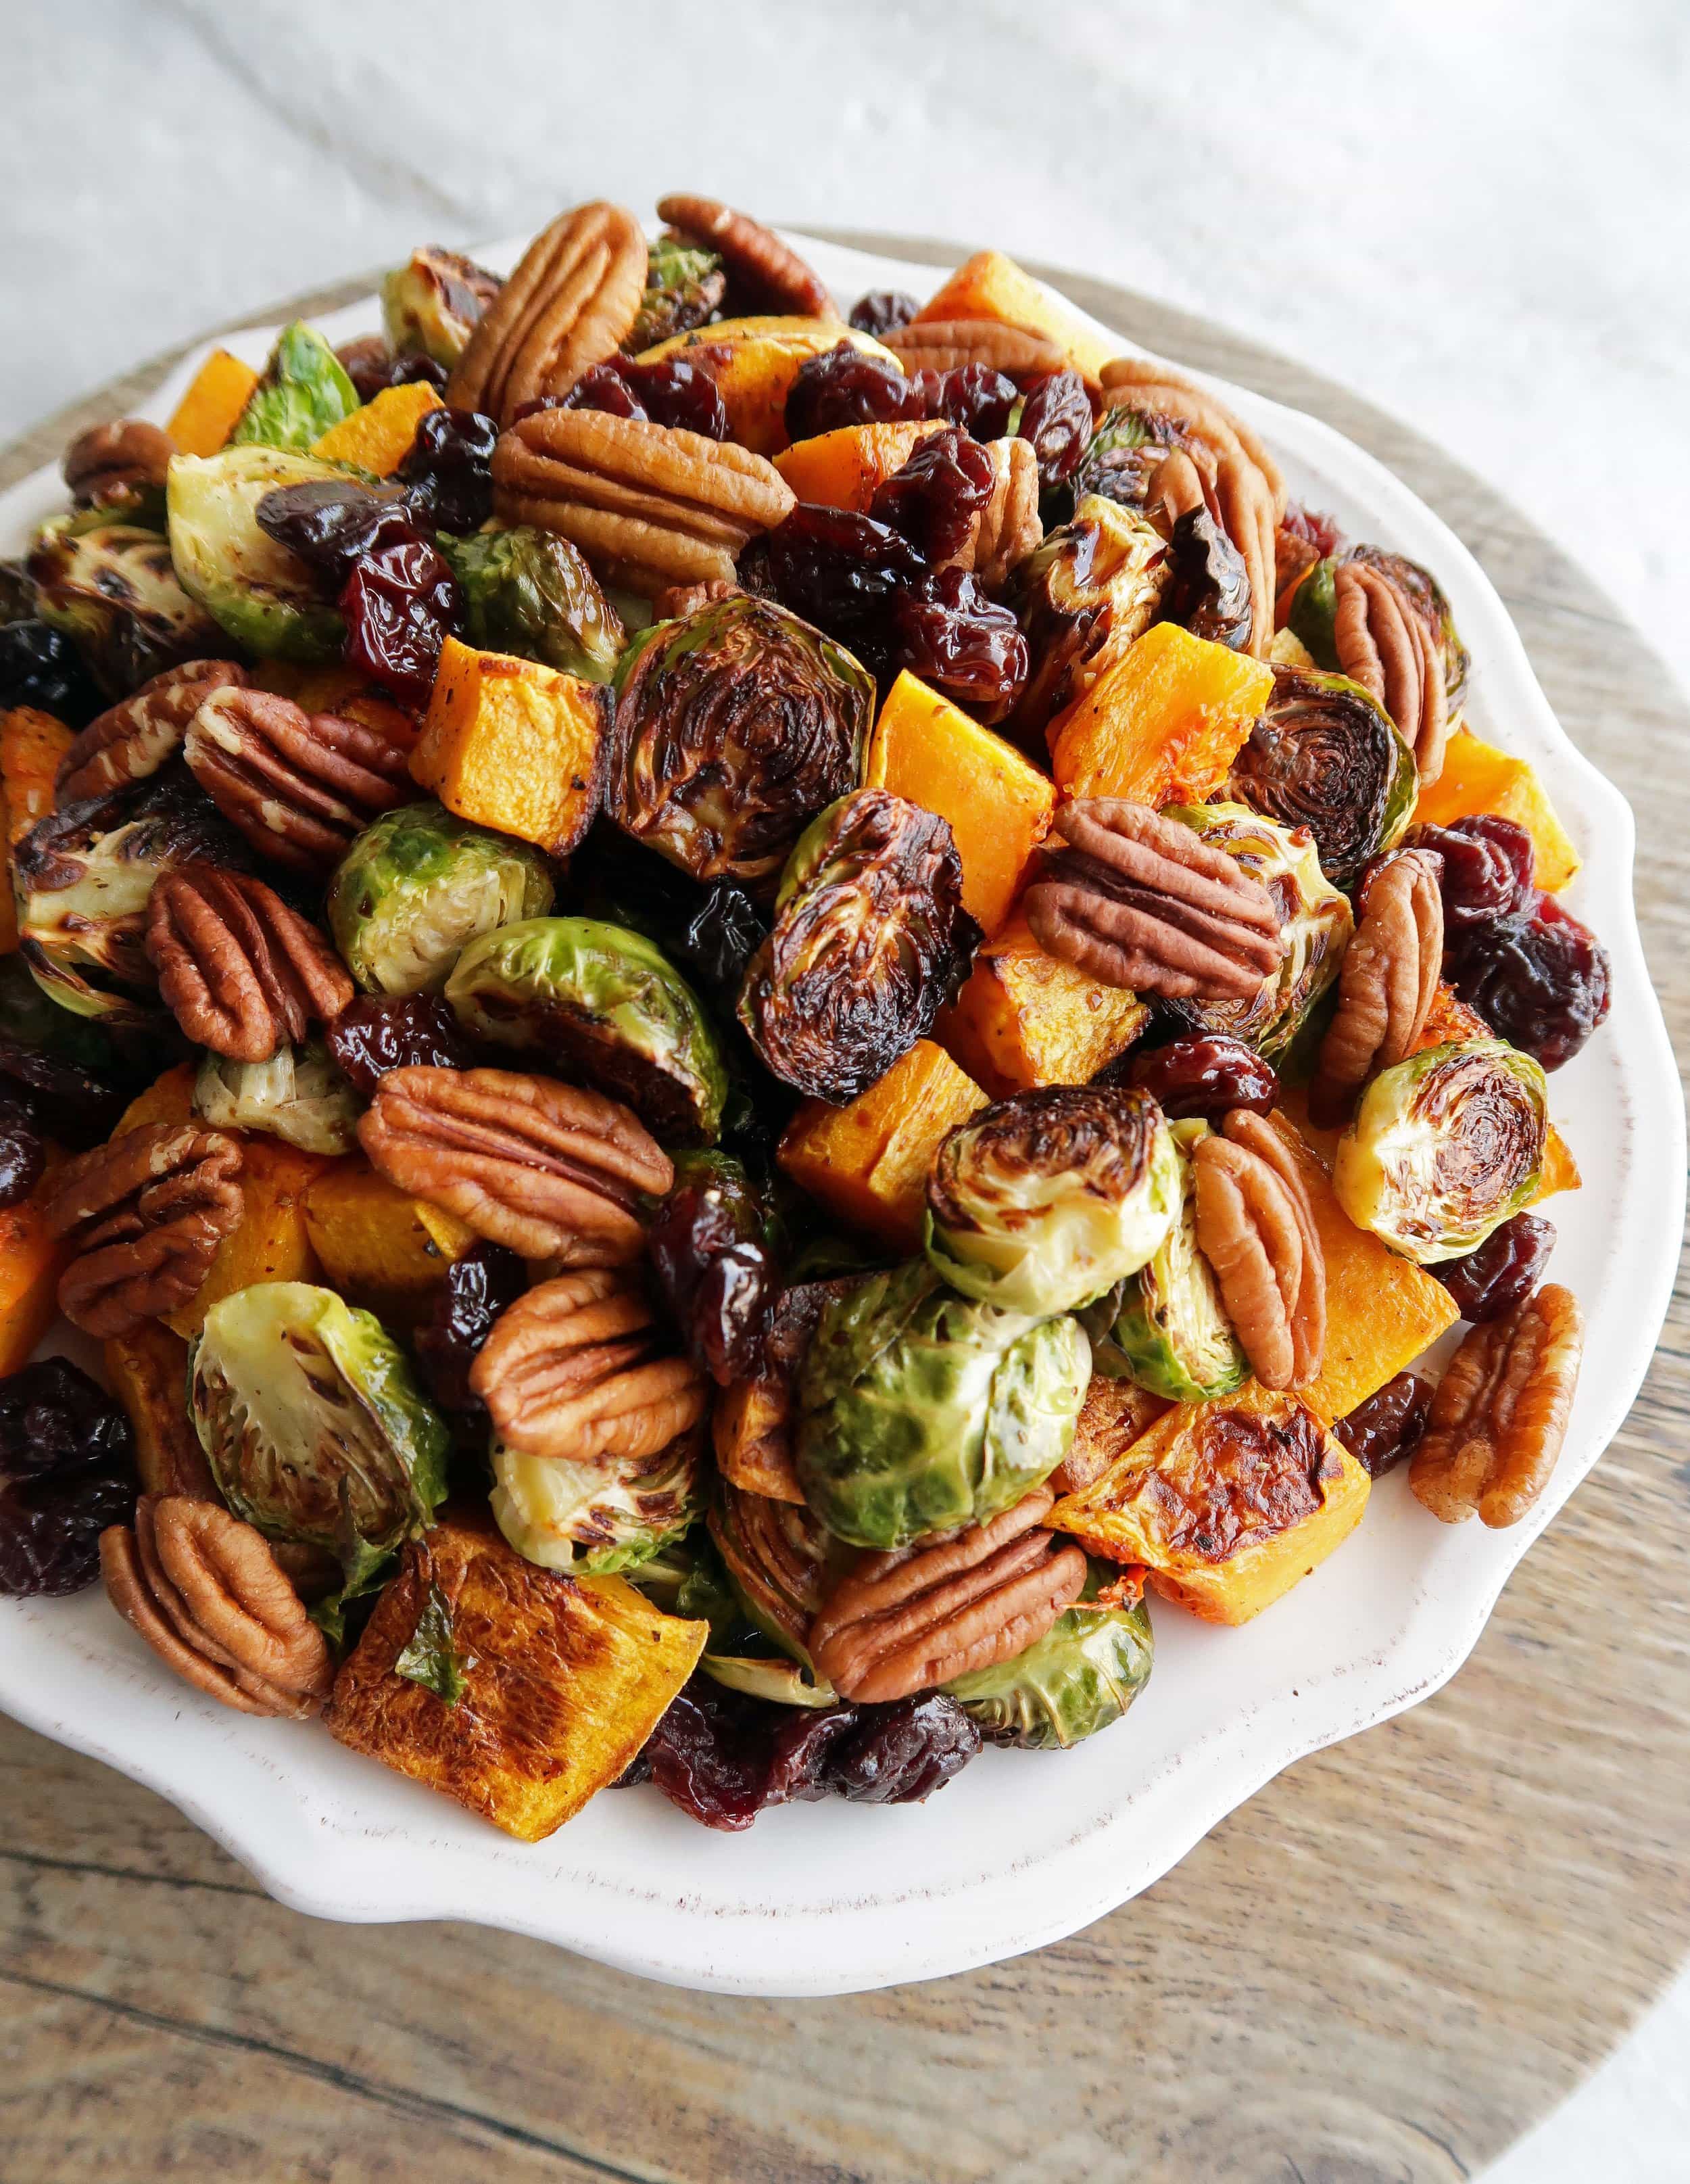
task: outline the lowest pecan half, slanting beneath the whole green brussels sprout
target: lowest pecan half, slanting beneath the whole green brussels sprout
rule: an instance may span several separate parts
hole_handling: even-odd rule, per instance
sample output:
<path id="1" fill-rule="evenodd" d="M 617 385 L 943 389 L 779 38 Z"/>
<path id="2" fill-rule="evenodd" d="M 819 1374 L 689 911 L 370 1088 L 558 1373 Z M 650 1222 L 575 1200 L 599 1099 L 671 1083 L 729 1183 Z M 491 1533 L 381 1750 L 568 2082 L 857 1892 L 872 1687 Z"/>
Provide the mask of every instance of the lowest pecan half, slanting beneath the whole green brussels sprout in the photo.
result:
<path id="1" fill-rule="evenodd" d="M 1085 1553 L 1044 1531 L 1037 1487 L 989 1524 L 862 1555 L 810 1625 L 810 1658 L 845 1699 L 876 1706 L 1011 1660 L 1085 1586 Z"/>

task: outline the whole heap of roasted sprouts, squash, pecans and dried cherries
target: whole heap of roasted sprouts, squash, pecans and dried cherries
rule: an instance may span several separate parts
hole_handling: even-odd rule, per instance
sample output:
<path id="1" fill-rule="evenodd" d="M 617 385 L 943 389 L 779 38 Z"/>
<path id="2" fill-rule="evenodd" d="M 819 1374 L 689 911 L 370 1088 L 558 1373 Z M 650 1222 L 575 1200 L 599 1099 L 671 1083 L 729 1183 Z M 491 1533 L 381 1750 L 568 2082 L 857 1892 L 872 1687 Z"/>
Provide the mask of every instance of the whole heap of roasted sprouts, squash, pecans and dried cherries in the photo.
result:
<path id="1" fill-rule="evenodd" d="M 1391 1465 L 1520 1518 L 1581 1345 L 1607 959 L 1437 579 L 998 253 L 659 210 L 0 579 L 0 1590 L 526 1839 L 1074 1745 Z"/>

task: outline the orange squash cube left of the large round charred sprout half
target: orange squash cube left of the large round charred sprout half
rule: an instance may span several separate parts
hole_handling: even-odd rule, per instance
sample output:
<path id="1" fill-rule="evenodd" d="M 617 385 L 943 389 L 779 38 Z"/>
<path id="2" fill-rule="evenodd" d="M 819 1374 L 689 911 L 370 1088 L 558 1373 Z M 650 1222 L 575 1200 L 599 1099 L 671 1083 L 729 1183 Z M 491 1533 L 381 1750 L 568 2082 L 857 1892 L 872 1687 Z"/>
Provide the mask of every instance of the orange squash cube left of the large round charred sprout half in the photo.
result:
<path id="1" fill-rule="evenodd" d="M 568 856 L 598 810 L 609 719 L 607 688 L 448 638 L 410 771 L 459 819 Z"/>

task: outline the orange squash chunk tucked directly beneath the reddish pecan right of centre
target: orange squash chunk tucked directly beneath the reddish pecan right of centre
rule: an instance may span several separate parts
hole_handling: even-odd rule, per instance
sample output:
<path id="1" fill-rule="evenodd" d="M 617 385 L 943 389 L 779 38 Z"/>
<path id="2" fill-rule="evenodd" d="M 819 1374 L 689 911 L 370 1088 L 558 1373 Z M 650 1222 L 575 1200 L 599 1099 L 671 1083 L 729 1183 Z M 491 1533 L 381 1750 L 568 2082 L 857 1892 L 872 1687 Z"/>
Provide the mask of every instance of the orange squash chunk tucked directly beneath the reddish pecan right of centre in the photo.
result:
<path id="1" fill-rule="evenodd" d="M 976 954 L 935 1037 L 993 1099 L 1090 1083 L 1124 1055 L 1151 1011 L 1118 985 L 1050 957 L 1017 911 Z"/>

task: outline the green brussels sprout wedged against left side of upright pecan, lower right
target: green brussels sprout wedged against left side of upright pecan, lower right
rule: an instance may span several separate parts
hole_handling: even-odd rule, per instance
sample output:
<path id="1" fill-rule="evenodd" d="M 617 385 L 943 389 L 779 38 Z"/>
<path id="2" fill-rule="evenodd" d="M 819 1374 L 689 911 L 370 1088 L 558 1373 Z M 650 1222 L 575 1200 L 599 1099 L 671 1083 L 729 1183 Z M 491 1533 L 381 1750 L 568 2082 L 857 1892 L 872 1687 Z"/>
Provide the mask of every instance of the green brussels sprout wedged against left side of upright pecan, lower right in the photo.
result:
<path id="1" fill-rule="evenodd" d="M 1242 1387 L 1249 1358 L 1221 1302 L 1214 1269 L 1197 1249 L 1197 1195 L 1190 1151 L 1207 1123 L 1173 1123 L 1179 1160 L 1179 1219 L 1155 1254 L 1081 1324 L 1092 1337 L 1092 1369 L 1135 1380 L 1168 1402 L 1210 1402 Z"/>

